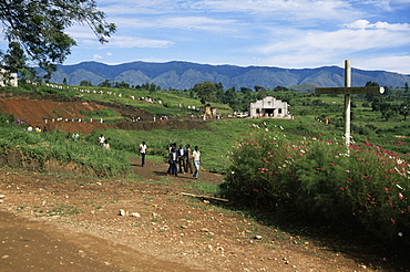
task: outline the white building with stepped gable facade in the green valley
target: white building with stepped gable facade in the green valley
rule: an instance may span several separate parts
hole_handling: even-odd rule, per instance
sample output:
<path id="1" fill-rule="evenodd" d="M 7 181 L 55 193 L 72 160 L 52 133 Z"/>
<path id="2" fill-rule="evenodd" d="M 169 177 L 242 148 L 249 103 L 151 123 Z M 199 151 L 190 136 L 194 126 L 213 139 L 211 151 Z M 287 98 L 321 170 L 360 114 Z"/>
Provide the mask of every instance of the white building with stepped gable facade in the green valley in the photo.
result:
<path id="1" fill-rule="evenodd" d="M 250 103 L 250 117 L 290 118 L 288 107 L 287 102 L 267 96 L 262 101 Z"/>

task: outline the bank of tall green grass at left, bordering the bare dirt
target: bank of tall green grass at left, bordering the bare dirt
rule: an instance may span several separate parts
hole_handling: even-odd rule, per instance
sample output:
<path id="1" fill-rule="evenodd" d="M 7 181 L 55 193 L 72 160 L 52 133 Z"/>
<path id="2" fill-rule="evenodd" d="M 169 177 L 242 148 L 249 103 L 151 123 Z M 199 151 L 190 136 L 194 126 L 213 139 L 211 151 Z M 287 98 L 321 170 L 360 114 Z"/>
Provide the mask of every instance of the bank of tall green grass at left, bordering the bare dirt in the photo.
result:
<path id="1" fill-rule="evenodd" d="M 38 170 L 44 170 L 50 160 L 74 163 L 84 172 L 91 170 L 102 177 L 127 175 L 131 167 L 127 153 L 104 150 L 88 142 L 74 142 L 62 132 L 28 132 L 18 125 L 2 126 L 0 129 L 0 154 L 4 165 L 10 153 L 21 156 L 21 161 L 34 161 Z"/>

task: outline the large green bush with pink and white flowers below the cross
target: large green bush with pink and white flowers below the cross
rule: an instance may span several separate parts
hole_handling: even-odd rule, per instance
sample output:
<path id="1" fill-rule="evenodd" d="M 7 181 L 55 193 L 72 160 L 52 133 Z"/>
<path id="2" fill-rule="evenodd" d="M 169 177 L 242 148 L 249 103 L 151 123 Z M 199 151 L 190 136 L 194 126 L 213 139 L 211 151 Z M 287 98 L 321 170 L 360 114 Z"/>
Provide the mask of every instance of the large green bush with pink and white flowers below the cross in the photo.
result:
<path id="1" fill-rule="evenodd" d="M 244 205 L 283 206 L 329 222 L 360 224 L 386 242 L 410 242 L 408 156 L 369 143 L 286 135 L 253 125 L 234 147 L 222 185 Z"/>

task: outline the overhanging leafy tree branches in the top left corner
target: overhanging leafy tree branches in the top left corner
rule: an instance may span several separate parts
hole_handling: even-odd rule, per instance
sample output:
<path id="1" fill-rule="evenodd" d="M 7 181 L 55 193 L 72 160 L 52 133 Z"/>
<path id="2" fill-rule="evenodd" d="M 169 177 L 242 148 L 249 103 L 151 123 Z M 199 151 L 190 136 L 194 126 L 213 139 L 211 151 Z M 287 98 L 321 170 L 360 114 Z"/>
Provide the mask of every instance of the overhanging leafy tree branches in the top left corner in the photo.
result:
<path id="1" fill-rule="evenodd" d="M 93 0 L 0 0 L 0 21 L 9 43 L 18 43 L 47 77 L 63 63 L 75 41 L 65 30 L 88 24 L 101 43 L 115 32 Z"/>

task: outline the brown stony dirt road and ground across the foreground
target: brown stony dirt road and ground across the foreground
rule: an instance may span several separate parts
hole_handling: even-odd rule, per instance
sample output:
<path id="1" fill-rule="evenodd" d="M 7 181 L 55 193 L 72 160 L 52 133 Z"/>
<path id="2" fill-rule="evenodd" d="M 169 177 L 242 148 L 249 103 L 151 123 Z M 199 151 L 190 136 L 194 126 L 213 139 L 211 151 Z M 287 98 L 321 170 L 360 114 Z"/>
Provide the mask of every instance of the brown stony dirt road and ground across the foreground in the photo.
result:
<path id="1" fill-rule="evenodd" d="M 139 163 L 133 180 L 0 170 L 0 271 L 407 271 L 366 245 L 293 236 L 186 197 L 191 174 Z"/>

